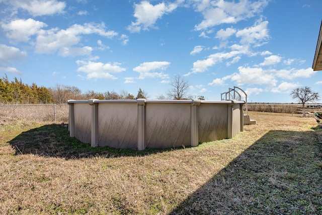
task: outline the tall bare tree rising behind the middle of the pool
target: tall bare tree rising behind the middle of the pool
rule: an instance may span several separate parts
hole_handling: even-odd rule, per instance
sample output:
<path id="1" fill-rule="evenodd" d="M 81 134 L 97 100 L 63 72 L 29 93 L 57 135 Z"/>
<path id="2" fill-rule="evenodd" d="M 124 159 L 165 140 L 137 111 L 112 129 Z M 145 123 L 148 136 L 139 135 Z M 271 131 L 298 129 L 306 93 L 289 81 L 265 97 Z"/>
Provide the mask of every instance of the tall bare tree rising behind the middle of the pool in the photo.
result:
<path id="1" fill-rule="evenodd" d="M 190 99 L 190 96 L 187 95 L 189 90 L 189 82 L 180 75 L 174 76 L 174 79 L 171 81 L 170 85 L 172 88 L 168 92 L 168 97 L 175 100 L 184 100 Z"/>

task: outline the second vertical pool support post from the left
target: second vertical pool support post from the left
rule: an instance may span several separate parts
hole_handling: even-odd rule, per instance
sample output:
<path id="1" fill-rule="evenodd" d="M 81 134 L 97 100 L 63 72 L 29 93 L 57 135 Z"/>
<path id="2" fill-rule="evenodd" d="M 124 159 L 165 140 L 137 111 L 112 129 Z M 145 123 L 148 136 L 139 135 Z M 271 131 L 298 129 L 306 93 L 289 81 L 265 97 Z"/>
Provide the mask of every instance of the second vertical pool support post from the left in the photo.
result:
<path id="1" fill-rule="evenodd" d="M 91 147 L 99 146 L 99 103 L 97 99 L 90 99 L 89 104 L 92 106 L 92 125 L 91 125 Z"/>

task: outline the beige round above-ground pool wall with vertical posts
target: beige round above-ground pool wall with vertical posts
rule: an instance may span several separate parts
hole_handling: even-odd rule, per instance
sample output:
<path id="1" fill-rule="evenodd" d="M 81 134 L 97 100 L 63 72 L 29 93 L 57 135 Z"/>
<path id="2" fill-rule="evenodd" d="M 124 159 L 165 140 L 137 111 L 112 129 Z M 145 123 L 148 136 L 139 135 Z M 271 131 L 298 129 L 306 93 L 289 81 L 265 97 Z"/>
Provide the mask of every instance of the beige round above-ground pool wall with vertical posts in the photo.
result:
<path id="1" fill-rule="evenodd" d="M 243 131 L 244 101 L 68 100 L 69 133 L 92 147 L 198 146 Z"/>

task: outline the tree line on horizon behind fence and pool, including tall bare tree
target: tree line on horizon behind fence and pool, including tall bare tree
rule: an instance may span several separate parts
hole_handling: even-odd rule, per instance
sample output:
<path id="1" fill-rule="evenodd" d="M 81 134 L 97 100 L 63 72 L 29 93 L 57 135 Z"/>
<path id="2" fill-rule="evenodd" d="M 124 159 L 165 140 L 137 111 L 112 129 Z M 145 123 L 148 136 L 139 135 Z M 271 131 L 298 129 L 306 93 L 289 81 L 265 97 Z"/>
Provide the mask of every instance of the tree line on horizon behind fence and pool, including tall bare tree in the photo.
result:
<path id="1" fill-rule="evenodd" d="M 157 99 L 192 99 L 192 96 L 187 94 L 189 83 L 180 75 L 174 77 L 170 86 L 171 89 L 168 91 L 167 95 L 160 95 Z M 148 98 L 148 94 L 141 88 L 138 89 L 136 96 L 125 90 L 122 90 L 120 93 L 115 91 L 107 91 L 104 93 L 88 91 L 82 93 L 80 89 L 72 86 L 57 84 L 53 88 L 46 88 L 43 86 L 38 87 L 35 83 L 29 86 L 16 77 L 10 82 L 7 75 L 0 79 L 0 104 L 63 104 L 70 99 L 134 100 Z M 204 97 L 199 96 L 198 99 L 204 100 Z"/>

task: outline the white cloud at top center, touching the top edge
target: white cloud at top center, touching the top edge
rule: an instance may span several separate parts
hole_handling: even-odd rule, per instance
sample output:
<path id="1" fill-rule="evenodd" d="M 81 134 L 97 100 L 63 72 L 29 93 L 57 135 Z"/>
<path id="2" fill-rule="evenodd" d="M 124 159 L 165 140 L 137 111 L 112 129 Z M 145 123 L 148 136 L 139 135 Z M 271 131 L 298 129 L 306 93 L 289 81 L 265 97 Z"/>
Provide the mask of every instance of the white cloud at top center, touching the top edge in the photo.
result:
<path id="1" fill-rule="evenodd" d="M 178 7 L 176 4 L 159 3 L 151 5 L 148 1 L 142 1 L 140 4 L 134 4 L 134 17 L 136 22 L 132 22 L 127 27 L 130 32 L 139 32 L 141 29 L 148 30 L 155 28 L 154 24 L 157 19 L 162 18 L 163 15 L 171 13 Z"/>

